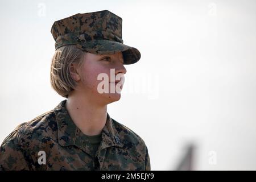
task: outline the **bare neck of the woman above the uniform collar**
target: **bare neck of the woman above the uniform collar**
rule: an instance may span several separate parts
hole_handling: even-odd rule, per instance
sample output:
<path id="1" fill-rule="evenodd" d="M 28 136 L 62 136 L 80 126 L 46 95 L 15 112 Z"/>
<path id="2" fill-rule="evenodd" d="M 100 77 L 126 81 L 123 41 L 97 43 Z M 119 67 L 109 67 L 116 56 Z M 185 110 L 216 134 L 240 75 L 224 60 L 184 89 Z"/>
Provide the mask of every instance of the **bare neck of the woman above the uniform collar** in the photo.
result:
<path id="1" fill-rule="evenodd" d="M 73 93 L 68 96 L 67 110 L 75 125 L 85 135 L 98 135 L 106 124 L 107 105 L 100 105 L 92 97 Z"/>

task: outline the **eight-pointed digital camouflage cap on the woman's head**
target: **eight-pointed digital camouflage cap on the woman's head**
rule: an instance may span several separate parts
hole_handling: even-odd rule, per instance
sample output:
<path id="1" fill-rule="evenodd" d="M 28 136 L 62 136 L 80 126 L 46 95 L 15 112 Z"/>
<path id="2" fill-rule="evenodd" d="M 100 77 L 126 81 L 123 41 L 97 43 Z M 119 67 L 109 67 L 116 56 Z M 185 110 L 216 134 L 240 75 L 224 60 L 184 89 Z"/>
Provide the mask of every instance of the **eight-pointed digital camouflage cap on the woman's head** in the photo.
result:
<path id="1" fill-rule="evenodd" d="M 137 48 L 123 44 L 122 18 L 108 10 L 75 14 L 53 23 L 51 33 L 55 49 L 76 45 L 94 54 L 123 53 L 124 64 L 136 63 L 141 58 Z"/>

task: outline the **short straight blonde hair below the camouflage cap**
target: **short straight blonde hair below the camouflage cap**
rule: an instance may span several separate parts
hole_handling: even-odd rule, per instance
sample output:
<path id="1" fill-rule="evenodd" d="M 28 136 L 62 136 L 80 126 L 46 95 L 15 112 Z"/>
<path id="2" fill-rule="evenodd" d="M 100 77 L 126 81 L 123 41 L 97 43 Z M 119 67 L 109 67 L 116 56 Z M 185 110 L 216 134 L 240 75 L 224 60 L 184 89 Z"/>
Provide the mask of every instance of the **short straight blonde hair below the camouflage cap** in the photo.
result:
<path id="1" fill-rule="evenodd" d="M 82 65 L 85 51 L 77 48 L 75 45 L 62 46 L 55 51 L 51 63 L 51 86 L 60 94 L 68 98 L 69 92 L 75 89 L 77 82 L 70 74 L 72 63 Z"/>

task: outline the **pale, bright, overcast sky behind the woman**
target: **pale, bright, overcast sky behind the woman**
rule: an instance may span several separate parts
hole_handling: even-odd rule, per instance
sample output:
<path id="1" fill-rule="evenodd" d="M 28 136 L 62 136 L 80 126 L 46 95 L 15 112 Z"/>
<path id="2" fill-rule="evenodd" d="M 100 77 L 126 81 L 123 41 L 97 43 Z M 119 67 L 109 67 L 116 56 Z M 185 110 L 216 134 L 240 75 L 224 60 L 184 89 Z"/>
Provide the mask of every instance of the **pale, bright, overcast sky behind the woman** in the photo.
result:
<path id="1" fill-rule="evenodd" d="M 174 170 L 193 143 L 196 170 L 255 170 L 253 0 L 1 1 L 0 143 L 65 99 L 49 82 L 53 22 L 100 10 L 142 55 L 108 113 L 143 138 L 151 169 Z"/>

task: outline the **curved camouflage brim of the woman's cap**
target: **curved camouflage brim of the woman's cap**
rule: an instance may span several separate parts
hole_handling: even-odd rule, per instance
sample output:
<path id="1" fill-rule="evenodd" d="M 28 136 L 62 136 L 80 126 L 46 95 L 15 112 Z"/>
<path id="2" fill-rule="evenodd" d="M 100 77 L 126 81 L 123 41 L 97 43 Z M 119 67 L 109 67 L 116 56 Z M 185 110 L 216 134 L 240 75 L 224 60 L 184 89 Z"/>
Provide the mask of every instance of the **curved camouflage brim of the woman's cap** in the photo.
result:
<path id="1" fill-rule="evenodd" d="M 109 55 L 116 52 L 122 52 L 124 64 L 134 64 L 141 59 L 141 53 L 137 48 L 111 40 L 91 40 L 76 44 L 76 46 L 84 51 L 99 55 Z"/>

